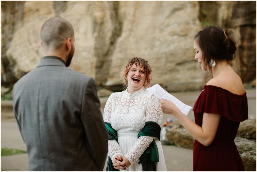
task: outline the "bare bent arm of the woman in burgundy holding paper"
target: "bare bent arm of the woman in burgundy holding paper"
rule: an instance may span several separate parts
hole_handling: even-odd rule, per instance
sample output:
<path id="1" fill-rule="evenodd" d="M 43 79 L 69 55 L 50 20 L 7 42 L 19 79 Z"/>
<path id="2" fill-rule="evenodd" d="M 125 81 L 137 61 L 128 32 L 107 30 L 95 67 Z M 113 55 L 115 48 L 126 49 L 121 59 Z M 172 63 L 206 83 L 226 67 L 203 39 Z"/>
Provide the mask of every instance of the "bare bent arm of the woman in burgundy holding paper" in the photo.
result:
<path id="1" fill-rule="evenodd" d="M 184 115 L 171 101 L 160 99 L 159 102 L 163 113 L 173 114 L 198 142 L 204 146 L 209 146 L 212 143 L 219 126 L 221 117 L 219 114 L 204 113 L 202 127 L 200 127 Z"/>

